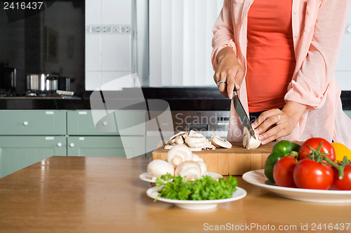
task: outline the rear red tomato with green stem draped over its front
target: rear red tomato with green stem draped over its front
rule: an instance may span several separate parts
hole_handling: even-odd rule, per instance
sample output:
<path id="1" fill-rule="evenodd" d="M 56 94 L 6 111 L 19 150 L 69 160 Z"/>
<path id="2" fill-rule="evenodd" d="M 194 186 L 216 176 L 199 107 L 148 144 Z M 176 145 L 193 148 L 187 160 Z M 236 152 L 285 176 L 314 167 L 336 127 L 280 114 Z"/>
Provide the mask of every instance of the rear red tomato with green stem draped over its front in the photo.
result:
<path id="1" fill-rule="evenodd" d="M 330 155 L 326 155 L 326 157 L 329 157 L 329 159 L 331 159 L 332 161 L 335 161 L 335 150 L 333 148 L 333 145 L 331 145 L 329 141 L 326 141 L 326 139 L 322 139 L 322 138 L 307 139 L 301 145 L 300 150 L 298 150 L 298 160 L 303 160 L 312 153 L 312 150 L 308 146 L 314 148 L 314 150 L 317 150 L 321 143 L 322 143 L 322 147 L 321 147 L 320 153 L 329 153 Z"/>

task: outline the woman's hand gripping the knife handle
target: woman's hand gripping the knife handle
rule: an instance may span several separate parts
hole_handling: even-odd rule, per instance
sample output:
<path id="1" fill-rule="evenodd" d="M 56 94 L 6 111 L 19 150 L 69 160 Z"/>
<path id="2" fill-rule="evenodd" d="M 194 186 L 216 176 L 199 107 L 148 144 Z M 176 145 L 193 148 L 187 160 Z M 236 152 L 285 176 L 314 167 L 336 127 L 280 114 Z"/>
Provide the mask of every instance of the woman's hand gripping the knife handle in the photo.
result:
<path id="1" fill-rule="evenodd" d="M 218 86 L 218 90 L 225 97 L 232 99 L 234 85 L 237 90 L 244 78 L 244 71 L 238 62 L 237 56 L 230 47 L 225 47 L 218 52 L 217 67 L 213 79 L 216 83 L 224 81 Z"/>

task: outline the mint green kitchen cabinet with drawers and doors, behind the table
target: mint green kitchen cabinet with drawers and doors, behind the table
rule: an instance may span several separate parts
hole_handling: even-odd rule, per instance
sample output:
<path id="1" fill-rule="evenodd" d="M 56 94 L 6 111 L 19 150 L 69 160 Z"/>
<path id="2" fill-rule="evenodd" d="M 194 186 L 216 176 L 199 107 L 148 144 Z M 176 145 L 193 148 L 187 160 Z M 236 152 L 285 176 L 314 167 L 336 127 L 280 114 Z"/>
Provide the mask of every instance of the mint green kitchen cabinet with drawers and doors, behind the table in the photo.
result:
<path id="1" fill-rule="evenodd" d="M 145 156 L 145 111 L 0 111 L 0 178 L 53 155 Z"/>

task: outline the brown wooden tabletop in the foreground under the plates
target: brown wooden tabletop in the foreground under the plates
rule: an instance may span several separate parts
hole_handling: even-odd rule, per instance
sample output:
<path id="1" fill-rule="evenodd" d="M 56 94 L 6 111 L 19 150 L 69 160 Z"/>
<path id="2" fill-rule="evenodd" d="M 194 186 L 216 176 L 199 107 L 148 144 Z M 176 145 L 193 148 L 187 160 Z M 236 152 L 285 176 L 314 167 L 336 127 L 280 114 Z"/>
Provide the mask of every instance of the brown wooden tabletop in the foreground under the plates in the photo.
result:
<path id="1" fill-rule="evenodd" d="M 150 183 L 139 178 L 150 161 L 150 157 L 53 156 L 0 178 L 0 232 L 235 231 L 216 231 L 221 225 L 241 227 L 238 232 L 270 232 L 258 227 L 279 225 L 296 226 L 285 232 L 313 232 L 313 224 L 319 223 L 322 227 L 343 223 L 344 230 L 334 231 L 351 232 L 350 225 L 346 230 L 351 204 L 284 199 L 240 176 L 239 187 L 247 196 L 216 209 L 190 211 L 154 203 L 145 194 Z M 308 230 L 301 230 L 306 224 Z"/>

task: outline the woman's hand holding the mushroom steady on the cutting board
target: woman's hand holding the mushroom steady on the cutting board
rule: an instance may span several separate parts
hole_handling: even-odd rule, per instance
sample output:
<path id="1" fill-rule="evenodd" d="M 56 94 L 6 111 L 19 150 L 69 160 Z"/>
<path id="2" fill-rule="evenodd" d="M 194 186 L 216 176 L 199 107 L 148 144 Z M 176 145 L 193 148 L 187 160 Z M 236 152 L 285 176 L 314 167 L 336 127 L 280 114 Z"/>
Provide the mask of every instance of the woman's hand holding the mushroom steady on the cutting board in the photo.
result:
<path id="1" fill-rule="evenodd" d="M 253 131 L 259 135 L 258 139 L 263 144 L 288 136 L 293 132 L 306 108 L 307 106 L 295 101 L 287 101 L 282 110 L 274 108 L 261 113 L 252 124 Z"/>

